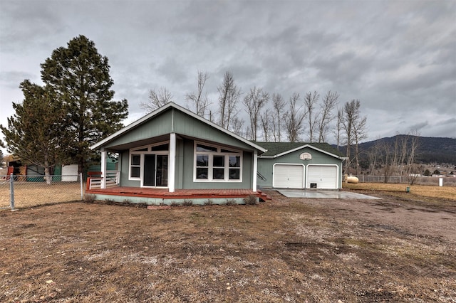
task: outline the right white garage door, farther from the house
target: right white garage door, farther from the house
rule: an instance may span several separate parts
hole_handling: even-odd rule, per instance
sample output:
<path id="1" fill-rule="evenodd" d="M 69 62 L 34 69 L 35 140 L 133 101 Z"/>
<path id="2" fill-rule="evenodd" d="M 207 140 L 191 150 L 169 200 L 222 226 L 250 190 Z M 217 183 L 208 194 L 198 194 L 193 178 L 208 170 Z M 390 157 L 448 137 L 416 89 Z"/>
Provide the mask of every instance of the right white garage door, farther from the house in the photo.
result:
<path id="1" fill-rule="evenodd" d="M 306 188 L 336 189 L 337 166 L 309 165 L 307 166 Z"/>

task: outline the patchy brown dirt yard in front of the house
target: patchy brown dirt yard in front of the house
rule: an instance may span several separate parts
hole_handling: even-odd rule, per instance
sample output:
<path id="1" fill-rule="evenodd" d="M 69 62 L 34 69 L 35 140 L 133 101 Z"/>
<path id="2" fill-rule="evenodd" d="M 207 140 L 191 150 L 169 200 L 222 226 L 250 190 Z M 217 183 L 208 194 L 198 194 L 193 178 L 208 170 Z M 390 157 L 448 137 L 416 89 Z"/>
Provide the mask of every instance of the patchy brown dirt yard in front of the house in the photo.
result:
<path id="1" fill-rule="evenodd" d="M 0 211 L 0 302 L 456 302 L 456 200 L 369 193 Z"/>

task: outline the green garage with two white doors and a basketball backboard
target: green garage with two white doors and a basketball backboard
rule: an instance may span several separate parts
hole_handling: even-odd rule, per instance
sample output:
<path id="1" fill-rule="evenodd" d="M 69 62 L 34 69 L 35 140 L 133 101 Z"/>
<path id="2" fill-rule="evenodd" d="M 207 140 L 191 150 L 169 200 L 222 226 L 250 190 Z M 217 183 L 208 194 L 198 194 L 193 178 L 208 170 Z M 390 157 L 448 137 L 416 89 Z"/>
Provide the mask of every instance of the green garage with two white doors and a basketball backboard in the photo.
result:
<path id="1" fill-rule="evenodd" d="M 264 188 L 342 188 L 342 161 L 327 143 L 257 142 L 258 185 Z"/>

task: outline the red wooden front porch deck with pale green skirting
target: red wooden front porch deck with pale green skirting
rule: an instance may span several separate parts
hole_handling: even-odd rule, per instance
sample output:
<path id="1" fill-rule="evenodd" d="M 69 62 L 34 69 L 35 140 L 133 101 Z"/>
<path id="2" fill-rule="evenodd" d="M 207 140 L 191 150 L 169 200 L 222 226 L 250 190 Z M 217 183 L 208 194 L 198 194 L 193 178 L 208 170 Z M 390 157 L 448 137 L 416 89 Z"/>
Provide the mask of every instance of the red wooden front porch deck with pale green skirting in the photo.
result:
<path id="1" fill-rule="evenodd" d="M 94 195 L 95 200 L 115 202 L 145 203 L 147 205 L 183 204 L 191 201 L 193 205 L 204 204 L 244 204 L 244 198 L 255 196 L 257 201 L 269 200 L 261 191 L 250 189 L 176 189 L 138 188 L 115 186 L 110 188 L 86 188 L 86 193 Z"/>

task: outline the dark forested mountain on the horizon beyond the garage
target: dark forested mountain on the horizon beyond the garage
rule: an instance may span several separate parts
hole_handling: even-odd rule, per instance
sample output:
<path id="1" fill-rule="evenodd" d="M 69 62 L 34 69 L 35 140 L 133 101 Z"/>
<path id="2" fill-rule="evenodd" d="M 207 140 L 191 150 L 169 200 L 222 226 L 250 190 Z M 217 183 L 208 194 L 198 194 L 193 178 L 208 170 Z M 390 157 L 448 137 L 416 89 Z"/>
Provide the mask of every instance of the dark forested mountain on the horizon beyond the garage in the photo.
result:
<path id="1" fill-rule="evenodd" d="M 359 144 L 361 157 L 366 157 L 366 153 L 363 151 L 368 151 L 373 147 L 377 147 L 378 144 L 386 143 L 393 146 L 396 139 L 401 139 L 400 137 L 405 137 L 405 134 L 398 134 L 394 137 L 385 137 Z M 344 154 L 346 153 L 346 147 L 339 147 L 339 150 Z M 422 162 L 423 164 L 446 163 L 456 165 L 456 139 L 440 137 L 418 137 L 418 151 L 416 153 L 415 159 L 417 162 Z"/>

